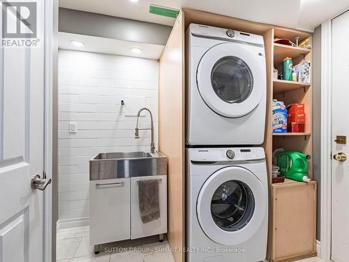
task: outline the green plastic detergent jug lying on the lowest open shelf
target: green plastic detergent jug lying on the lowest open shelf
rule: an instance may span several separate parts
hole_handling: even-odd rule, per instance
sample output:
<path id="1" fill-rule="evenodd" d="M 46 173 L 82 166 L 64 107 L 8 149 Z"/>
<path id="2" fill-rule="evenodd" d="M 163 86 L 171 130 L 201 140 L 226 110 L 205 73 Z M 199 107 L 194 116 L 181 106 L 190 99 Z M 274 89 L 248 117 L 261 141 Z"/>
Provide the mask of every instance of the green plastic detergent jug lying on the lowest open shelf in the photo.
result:
<path id="1" fill-rule="evenodd" d="M 306 175 L 308 171 L 308 160 L 311 156 L 295 151 L 283 151 L 278 154 L 278 166 L 281 175 L 290 180 L 311 182 Z"/>

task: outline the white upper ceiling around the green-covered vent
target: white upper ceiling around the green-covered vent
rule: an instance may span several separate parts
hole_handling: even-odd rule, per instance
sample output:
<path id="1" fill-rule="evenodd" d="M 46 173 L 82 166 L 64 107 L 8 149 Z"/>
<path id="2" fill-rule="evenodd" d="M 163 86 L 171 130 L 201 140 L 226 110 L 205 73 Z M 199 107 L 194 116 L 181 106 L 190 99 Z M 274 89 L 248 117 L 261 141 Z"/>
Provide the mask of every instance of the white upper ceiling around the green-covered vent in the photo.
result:
<path id="1" fill-rule="evenodd" d="M 348 0 L 59 0 L 64 8 L 173 25 L 174 19 L 149 14 L 149 4 L 194 8 L 231 17 L 313 31 L 349 9 Z"/>

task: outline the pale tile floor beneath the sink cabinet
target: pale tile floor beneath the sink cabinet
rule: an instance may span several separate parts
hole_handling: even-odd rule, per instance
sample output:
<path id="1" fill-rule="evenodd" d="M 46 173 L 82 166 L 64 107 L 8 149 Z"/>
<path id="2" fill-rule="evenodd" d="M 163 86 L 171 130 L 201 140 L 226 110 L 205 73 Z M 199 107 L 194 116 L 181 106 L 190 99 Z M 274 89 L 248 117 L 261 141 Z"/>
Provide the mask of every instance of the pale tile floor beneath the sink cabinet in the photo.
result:
<path id="1" fill-rule="evenodd" d="M 89 226 L 79 226 L 58 231 L 57 262 L 174 262 L 174 259 L 168 242 L 158 242 L 157 236 L 102 245 L 96 255 L 89 245 Z M 311 258 L 296 262 L 324 261 Z"/>

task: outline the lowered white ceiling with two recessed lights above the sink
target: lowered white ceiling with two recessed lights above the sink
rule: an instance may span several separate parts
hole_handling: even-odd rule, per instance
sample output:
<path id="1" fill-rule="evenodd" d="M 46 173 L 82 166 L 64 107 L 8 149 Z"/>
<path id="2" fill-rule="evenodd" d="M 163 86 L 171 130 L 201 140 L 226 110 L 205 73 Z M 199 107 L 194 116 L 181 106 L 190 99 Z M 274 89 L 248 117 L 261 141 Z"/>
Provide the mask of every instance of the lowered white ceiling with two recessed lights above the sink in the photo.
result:
<path id="1" fill-rule="evenodd" d="M 70 43 L 76 40 L 84 43 L 84 47 L 79 48 Z M 160 59 L 163 52 L 163 45 L 154 45 L 149 43 L 135 43 L 131 41 L 122 41 L 117 39 L 102 38 L 96 36 L 85 36 L 81 34 L 58 33 L 58 47 L 66 50 L 77 50 L 84 52 L 98 52 L 103 54 L 117 54 L 127 57 L 142 57 L 147 59 Z M 141 54 L 135 54 L 131 48 L 142 49 Z"/>

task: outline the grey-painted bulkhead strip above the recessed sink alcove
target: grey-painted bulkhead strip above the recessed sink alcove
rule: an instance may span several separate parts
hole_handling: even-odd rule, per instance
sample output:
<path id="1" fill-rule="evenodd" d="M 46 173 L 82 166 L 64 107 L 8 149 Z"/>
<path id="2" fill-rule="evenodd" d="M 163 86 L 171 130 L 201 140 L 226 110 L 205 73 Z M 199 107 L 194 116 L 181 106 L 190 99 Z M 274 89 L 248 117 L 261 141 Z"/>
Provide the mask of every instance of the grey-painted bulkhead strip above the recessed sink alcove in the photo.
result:
<path id="1" fill-rule="evenodd" d="M 109 15 L 59 8 L 59 31 L 166 45 L 172 27 Z"/>

